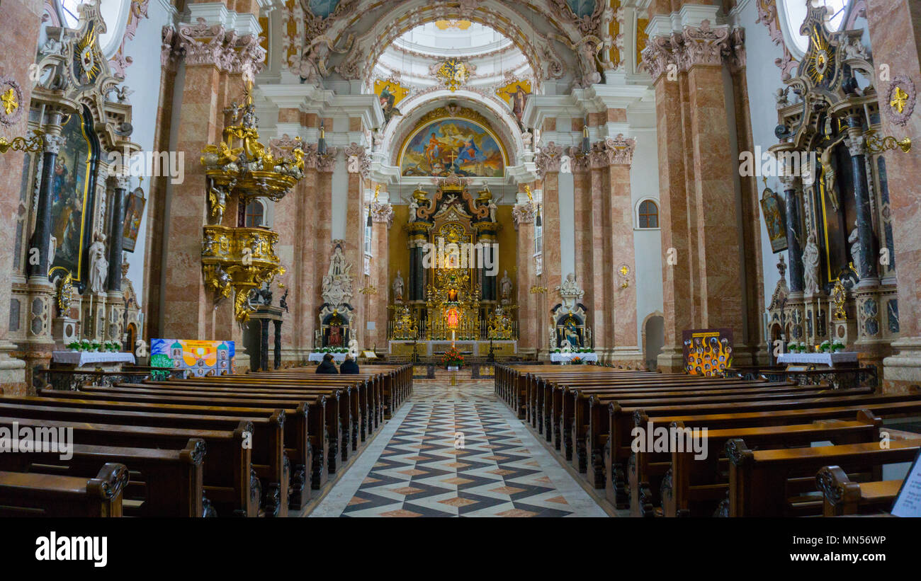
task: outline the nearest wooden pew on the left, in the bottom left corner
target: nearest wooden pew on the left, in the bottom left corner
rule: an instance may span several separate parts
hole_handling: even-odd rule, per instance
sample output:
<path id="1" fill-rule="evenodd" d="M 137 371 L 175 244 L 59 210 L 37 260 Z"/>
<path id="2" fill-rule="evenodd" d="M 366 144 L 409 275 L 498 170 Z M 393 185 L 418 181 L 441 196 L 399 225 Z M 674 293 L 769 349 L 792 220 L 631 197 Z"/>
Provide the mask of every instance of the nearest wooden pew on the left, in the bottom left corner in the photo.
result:
<path id="1" fill-rule="evenodd" d="M 96 477 L 0 472 L 0 517 L 121 517 L 124 464 L 107 463 Z"/>

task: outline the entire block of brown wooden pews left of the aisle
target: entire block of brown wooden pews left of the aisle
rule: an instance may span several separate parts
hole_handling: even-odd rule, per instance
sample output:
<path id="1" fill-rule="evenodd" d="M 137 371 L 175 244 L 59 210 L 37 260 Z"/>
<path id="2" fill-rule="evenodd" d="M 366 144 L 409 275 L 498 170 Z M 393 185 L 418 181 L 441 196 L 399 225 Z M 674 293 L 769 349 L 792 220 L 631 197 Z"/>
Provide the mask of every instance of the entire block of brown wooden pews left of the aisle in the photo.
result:
<path id="1" fill-rule="evenodd" d="M 67 460 L 0 454 L 0 515 L 297 515 L 412 389 L 408 365 L 311 366 L 0 397 L 0 428 L 70 428 L 75 442 Z"/>

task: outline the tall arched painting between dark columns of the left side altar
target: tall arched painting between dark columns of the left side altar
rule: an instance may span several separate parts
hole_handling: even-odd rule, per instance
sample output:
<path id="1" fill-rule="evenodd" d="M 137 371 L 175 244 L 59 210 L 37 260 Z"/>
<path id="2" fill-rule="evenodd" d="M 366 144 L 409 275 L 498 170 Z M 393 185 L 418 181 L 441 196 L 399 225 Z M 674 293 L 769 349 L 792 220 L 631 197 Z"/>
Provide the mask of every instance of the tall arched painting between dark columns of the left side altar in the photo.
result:
<path id="1" fill-rule="evenodd" d="M 89 245 L 87 214 L 92 208 L 89 191 L 90 140 L 83 119 L 71 115 L 62 135 L 66 140 L 54 161 L 52 173 L 51 249 L 49 274 L 70 272 L 81 280 L 83 248 Z"/>

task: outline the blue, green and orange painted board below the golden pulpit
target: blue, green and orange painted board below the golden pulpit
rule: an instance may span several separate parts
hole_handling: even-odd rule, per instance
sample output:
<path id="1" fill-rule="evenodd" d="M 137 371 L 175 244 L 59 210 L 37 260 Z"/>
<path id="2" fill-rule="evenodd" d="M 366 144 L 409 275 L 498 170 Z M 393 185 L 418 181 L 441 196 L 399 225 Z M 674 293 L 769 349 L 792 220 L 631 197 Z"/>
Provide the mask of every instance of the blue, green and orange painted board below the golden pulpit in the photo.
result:
<path id="1" fill-rule="evenodd" d="M 150 344 L 151 367 L 187 370 L 190 377 L 232 374 L 235 355 L 233 341 L 154 339 Z"/>

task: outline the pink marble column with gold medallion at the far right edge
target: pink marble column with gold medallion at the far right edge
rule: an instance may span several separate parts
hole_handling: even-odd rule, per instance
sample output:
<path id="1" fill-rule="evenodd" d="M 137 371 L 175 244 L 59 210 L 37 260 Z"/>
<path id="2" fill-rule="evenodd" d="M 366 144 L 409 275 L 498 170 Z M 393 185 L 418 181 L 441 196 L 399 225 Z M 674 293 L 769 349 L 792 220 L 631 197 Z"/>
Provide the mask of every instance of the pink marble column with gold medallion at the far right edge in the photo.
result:
<path id="1" fill-rule="evenodd" d="M 880 81 L 877 94 L 880 105 L 881 135 L 901 140 L 911 137 L 912 149 L 890 150 L 883 154 L 889 182 L 892 234 L 898 276 L 900 338 L 892 342 L 897 353 L 883 359 L 883 389 L 905 393 L 908 386 L 921 383 L 921 205 L 917 182 L 921 175 L 921 6 L 915 0 L 873 0 L 867 3 L 869 37 L 873 61 L 886 63 L 889 81 Z M 896 88 L 908 100 L 900 112 L 893 104 Z M 880 305 L 880 311 L 882 311 Z"/>

